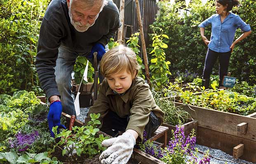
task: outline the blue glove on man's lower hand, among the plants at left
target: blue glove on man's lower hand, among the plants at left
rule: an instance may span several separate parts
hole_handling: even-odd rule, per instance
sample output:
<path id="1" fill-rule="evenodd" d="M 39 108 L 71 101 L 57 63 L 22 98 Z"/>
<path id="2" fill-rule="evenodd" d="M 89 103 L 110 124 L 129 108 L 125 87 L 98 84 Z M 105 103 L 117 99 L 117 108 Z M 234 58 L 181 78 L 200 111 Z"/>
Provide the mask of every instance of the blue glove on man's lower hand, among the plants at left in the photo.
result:
<path id="1" fill-rule="evenodd" d="M 61 125 L 61 112 L 62 112 L 62 105 L 60 101 L 55 101 L 50 105 L 50 110 L 47 116 L 49 130 L 51 132 L 51 136 L 54 137 L 54 133 L 52 132 L 52 127 L 58 126 L 58 133 L 59 128 L 66 129 L 65 125 Z"/>

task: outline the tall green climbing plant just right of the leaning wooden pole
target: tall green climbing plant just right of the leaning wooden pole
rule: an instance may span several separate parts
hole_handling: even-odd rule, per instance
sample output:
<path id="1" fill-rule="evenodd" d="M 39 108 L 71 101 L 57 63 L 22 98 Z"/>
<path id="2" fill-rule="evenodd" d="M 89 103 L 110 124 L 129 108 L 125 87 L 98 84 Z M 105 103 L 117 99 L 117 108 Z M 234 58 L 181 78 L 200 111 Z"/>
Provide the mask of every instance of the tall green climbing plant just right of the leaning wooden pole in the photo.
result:
<path id="1" fill-rule="evenodd" d="M 162 89 L 163 86 L 165 86 L 169 82 L 168 75 L 171 75 L 169 71 L 169 64 L 171 64 L 169 61 L 165 61 L 166 54 L 164 52 L 164 48 L 168 48 L 167 44 L 163 43 L 163 38 L 169 38 L 166 34 L 163 34 L 163 30 L 161 28 L 152 27 L 153 34 L 152 40 L 153 40 L 153 50 L 150 52 L 151 55 L 151 65 L 150 65 L 150 71 L 151 71 L 151 77 L 152 80 L 156 81 L 155 90 L 159 91 Z M 155 30 L 159 30 L 160 34 L 157 34 Z"/>

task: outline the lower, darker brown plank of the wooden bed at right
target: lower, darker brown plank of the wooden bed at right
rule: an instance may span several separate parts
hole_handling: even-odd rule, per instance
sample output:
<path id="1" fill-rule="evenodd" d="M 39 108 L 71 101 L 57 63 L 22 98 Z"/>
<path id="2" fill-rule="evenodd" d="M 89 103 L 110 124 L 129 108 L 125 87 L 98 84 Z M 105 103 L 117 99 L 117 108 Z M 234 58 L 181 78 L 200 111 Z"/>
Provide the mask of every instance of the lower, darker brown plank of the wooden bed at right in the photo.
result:
<path id="1" fill-rule="evenodd" d="M 241 137 L 217 132 L 207 128 L 197 127 L 197 144 L 210 148 L 220 149 L 229 155 L 233 155 L 233 148 L 244 144 L 244 154 L 240 159 L 256 162 L 256 142 Z"/>

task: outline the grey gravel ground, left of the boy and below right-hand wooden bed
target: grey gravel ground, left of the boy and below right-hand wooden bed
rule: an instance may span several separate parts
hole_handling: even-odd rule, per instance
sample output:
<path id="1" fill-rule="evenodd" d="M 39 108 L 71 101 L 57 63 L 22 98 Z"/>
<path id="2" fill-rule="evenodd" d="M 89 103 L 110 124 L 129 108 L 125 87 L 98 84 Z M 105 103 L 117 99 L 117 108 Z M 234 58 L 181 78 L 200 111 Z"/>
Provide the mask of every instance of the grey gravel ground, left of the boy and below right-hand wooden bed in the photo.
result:
<path id="1" fill-rule="evenodd" d="M 88 113 L 89 108 L 80 108 L 80 115 L 78 116 L 78 120 L 84 122 L 85 117 Z M 196 148 L 199 151 L 206 152 L 208 149 L 210 150 L 209 154 L 212 156 L 210 159 L 210 164 L 253 164 L 252 162 L 247 162 L 242 159 L 235 159 L 231 155 L 224 153 L 221 150 L 218 149 L 212 149 L 208 148 L 206 146 L 196 145 Z M 203 157 L 202 153 L 198 153 L 198 159 L 201 159 Z M 225 160 L 219 160 L 219 159 L 225 159 Z"/>

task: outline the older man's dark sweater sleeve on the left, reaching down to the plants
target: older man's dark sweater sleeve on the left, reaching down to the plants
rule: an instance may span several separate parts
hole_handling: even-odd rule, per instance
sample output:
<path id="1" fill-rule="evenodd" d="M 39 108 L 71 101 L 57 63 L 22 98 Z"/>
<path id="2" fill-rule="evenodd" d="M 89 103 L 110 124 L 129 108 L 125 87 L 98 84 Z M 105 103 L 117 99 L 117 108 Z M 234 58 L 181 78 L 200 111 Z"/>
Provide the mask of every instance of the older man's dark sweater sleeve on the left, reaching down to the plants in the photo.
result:
<path id="1" fill-rule="evenodd" d="M 58 24 L 52 25 L 46 18 L 43 18 L 35 64 L 41 87 L 48 98 L 53 95 L 60 96 L 55 81 L 54 67 L 56 66 L 61 37 L 62 32 Z"/>

